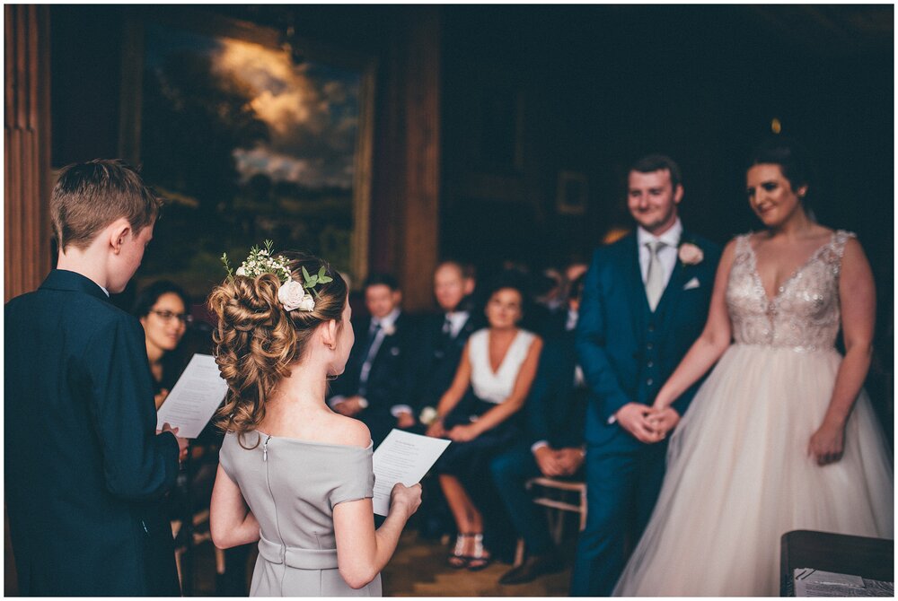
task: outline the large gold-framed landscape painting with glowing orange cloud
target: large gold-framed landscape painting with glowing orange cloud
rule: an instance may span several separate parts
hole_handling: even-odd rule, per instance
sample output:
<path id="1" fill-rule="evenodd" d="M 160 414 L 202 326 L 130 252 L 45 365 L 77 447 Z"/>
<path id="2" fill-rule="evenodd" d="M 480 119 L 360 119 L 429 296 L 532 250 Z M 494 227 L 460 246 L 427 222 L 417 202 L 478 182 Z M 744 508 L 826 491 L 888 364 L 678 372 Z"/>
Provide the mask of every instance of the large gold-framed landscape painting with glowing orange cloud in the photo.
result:
<path id="1" fill-rule="evenodd" d="M 167 199 L 140 283 L 205 295 L 263 240 L 367 268 L 374 59 L 214 13 L 126 25 L 121 152 Z"/>

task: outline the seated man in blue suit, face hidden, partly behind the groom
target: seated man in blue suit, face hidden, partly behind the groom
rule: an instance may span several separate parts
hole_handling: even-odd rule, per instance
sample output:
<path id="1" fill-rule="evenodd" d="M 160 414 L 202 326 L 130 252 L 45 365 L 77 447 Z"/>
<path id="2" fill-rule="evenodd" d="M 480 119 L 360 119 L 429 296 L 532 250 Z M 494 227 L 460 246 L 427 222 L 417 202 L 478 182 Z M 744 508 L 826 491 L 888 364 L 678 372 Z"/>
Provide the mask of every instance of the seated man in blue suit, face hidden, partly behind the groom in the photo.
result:
<path id="1" fill-rule="evenodd" d="M 576 315 L 583 275 L 571 287 L 568 309 Z M 540 367 L 524 407 L 526 430 L 514 448 L 493 458 L 493 480 L 518 536 L 524 538 L 527 558 L 499 579 L 501 584 L 529 582 L 559 571 L 561 557 L 549 536 L 544 510 L 524 489 L 530 478 L 567 478 L 581 471 L 584 460 L 585 384 L 574 348 L 576 319 L 565 334 L 546 342 Z"/>

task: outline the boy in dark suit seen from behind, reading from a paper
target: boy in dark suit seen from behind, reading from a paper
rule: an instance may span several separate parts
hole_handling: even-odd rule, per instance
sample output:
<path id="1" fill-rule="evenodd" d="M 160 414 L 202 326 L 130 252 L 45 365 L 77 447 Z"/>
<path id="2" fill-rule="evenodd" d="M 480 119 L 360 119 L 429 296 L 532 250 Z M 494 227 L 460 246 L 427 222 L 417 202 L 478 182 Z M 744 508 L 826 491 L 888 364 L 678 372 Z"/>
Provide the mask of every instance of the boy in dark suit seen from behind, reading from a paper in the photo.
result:
<path id="1" fill-rule="evenodd" d="M 160 498 L 187 441 L 155 430 L 144 331 L 116 309 L 159 200 L 127 165 L 70 165 L 57 269 L 5 307 L 5 483 L 19 593 L 179 595 Z"/>

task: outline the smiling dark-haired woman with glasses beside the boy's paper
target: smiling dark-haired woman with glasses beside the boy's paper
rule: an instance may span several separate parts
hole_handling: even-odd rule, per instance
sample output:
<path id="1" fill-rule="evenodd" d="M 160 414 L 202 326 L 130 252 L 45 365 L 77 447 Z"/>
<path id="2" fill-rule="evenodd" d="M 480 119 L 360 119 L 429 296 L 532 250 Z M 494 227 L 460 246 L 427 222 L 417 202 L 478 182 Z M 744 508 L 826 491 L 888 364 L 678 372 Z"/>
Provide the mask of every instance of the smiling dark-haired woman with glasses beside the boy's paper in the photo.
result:
<path id="1" fill-rule="evenodd" d="M 178 381 L 186 365 L 178 346 L 191 318 L 189 297 L 176 283 L 160 280 L 137 295 L 131 313 L 140 320 L 146 337 L 146 358 L 155 383 L 156 409 Z"/>

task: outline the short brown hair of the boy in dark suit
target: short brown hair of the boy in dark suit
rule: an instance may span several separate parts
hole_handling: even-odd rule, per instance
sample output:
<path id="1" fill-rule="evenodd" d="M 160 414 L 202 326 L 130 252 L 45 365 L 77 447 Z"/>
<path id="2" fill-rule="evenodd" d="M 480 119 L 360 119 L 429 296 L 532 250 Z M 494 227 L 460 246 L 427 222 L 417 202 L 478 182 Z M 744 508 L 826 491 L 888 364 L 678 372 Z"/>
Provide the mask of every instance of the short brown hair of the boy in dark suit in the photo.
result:
<path id="1" fill-rule="evenodd" d="M 124 217 L 134 233 L 153 223 L 162 206 L 137 170 L 119 159 L 67 165 L 50 198 L 53 233 L 61 250 L 87 248 L 97 233 Z"/>

